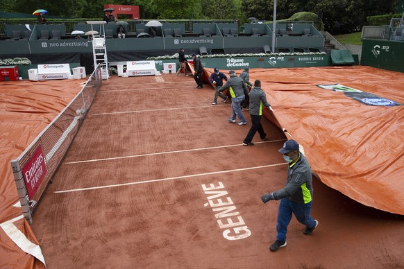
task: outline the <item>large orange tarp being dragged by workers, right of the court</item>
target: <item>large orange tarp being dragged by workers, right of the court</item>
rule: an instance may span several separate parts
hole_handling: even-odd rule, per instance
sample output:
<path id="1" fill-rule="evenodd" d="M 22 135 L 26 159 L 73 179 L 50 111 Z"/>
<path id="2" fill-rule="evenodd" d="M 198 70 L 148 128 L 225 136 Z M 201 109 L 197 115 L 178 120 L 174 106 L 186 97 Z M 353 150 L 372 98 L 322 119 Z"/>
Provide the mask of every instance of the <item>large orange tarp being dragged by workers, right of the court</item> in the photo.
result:
<path id="1" fill-rule="evenodd" d="M 251 69 L 255 79 L 321 182 L 404 215 L 404 73 L 362 66 Z M 358 94 L 364 103 L 353 98 Z"/>

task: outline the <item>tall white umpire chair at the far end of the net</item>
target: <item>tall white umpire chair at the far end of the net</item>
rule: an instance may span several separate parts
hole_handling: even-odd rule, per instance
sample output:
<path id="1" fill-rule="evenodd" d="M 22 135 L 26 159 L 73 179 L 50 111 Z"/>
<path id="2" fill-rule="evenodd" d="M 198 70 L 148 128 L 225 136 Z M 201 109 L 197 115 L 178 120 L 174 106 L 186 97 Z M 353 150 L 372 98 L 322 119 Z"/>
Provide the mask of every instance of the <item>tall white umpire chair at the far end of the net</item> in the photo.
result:
<path id="1" fill-rule="evenodd" d="M 106 21 L 87 21 L 87 24 L 91 25 L 92 34 L 92 56 L 94 59 L 94 68 L 96 68 L 99 64 L 101 66 L 101 78 L 103 80 L 109 80 L 110 78 L 110 67 L 108 64 L 108 55 L 107 55 L 107 47 L 106 47 L 106 37 L 105 37 L 105 28 L 104 24 Z M 94 31 L 93 26 L 99 25 L 99 35 L 97 35 L 96 31 Z"/>

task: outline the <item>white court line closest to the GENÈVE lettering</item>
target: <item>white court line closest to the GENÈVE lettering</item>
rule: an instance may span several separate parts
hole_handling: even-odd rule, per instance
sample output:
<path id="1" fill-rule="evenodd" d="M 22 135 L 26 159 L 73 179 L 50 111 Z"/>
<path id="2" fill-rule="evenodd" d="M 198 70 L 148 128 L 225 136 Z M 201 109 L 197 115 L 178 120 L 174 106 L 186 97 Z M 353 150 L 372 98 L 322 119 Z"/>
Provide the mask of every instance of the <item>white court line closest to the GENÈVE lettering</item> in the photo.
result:
<path id="1" fill-rule="evenodd" d="M 53 193 L 71 193 L 71 192 L 76 192 L 76 191 L 91 191 L 94 189 L 114 188 L 117 186 L 130 186 L 130 185 L 162 182 L 162 181 L 169 181 L 169 180 L 180 180 L 182 178 L 187 178 L 187 177 L 199 177 L 202 175 L 217 175 L 217 174 L 231 173 L 231 172 L 237 172 L 237 171 L 247 171 L 247 170 L 253 170 L 253 169 L 260 169 L 260 168 L 268 168 L 268 167 L 272 167 L 272 166 L 280 166 L 280 165 L 285 165 L 285 164 L 287 164 L 287 162 L 283 162 L 280 164 L 268 164 L 268 165 L 263 165 L 263 166 L 254 166 L 254 167 L 239 168 L 239 169 L 217 171 L 217 172 L 210 172 L 210 173 L 201 173 L 201 174 L 195 174 L 195 175 L 180 175 L 178 177 L 166 177 L 166 178 L 160 178 L 158 180 L 144 180 L 144 181 L 139 181 L 139 182 L 128 182 L 128 183 L 112 184 L 112 185 L 106 185 L 106 186 L 92 186 L 89 188 L 81 188 L 81 189 L 68 189 L 65 191 L 53 191 Z"/>

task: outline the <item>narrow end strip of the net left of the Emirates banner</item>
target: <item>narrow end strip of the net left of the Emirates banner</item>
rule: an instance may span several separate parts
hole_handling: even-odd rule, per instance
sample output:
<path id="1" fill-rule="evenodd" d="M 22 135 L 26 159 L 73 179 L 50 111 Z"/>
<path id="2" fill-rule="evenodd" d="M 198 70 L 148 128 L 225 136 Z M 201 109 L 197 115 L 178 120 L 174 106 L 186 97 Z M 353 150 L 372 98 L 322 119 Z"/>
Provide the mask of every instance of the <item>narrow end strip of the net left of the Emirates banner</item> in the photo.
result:
<path id="1" fill-rule="evenodd" d="M 28 191 L 26 190 L 24 177 L 17 159 L 11 161 L 11 167 L 12 174 L 14 175 L 14 182 L 17 186 L 19 201 L 21 203 L 22 214 L 24 215 L 24 218 L 28 220 L 28 223 L 32 224 L 32 213 L 29 205 Z"/>

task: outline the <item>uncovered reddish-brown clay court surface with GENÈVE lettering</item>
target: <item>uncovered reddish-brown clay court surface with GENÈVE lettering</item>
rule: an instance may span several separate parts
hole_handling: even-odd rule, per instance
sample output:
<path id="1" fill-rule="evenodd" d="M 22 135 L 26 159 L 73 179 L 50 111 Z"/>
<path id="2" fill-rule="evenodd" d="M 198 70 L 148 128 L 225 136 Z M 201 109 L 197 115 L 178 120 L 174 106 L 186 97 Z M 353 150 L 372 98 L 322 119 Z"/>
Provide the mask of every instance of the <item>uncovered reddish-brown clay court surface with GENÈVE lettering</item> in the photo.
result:
<path id="1" fill-rule="evenodd" d="M 103 81 L 33 216 L 48 268 L 404 267 L 403 216 L 317 178 L 319 226 L 305 236 L 292 218 L 287 247 L 270 252 L 278 201 L 260 197 L 285 184 L 287 138 L 263 117 L 267 141 L 242 146 L 250 125 L 228 123 L 213 94 L 191 76 Z"/>

